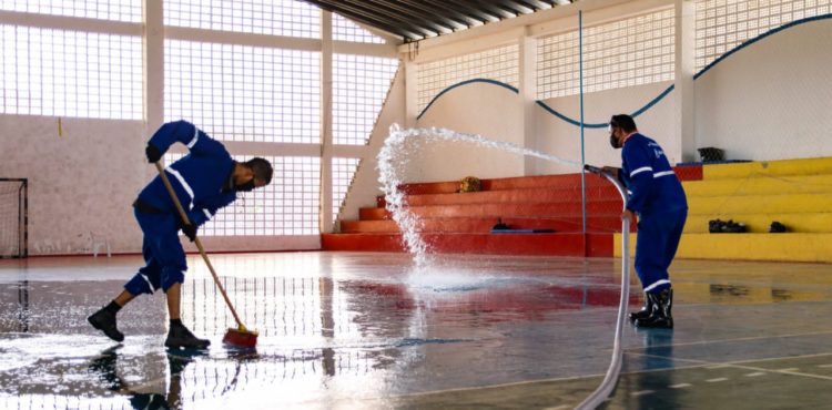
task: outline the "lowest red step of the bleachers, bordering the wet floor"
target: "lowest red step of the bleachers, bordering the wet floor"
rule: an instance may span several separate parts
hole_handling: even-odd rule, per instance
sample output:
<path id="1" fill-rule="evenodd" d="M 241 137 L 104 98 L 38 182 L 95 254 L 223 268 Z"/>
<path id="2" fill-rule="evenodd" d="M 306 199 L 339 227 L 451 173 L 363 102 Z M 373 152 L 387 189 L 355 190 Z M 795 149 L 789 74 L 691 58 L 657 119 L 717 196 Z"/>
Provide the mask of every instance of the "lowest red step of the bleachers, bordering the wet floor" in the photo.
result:
<path id="1" fill-rule="evenodd" d="M 425 234 L 433 253 L 612 256 L 612 234 Z M 402 235 L 324 234 L 324 250 L 404 252 Z"/>

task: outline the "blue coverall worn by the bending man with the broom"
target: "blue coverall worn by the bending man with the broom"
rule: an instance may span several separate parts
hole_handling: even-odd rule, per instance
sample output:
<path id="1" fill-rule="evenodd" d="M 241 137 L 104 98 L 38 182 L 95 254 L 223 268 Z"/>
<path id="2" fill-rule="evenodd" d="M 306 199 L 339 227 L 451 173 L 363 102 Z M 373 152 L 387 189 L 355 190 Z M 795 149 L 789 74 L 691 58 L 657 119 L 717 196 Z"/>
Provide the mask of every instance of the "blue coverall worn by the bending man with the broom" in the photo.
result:
<path id="1" fill-rule="evenodd" d="M 231 181 L 234 161 L 220 142 L 186 121 L 162 125 L 149 144 L 164 153 L 174 142 L 186 145 L 191 152 L 165 172 L 191 224 L 200 226 L 236 198 Z M 168 291 L 184 280 L 187 270 L 177 235 L 182 224 L 179 212 L 159 176 L 142 189 L 135 204 L 135 219 L 144 234 L 142 254 L 146 266 L 139 269 L 124 289 L 133 295 L 152 294 L 159 288 Z"/>

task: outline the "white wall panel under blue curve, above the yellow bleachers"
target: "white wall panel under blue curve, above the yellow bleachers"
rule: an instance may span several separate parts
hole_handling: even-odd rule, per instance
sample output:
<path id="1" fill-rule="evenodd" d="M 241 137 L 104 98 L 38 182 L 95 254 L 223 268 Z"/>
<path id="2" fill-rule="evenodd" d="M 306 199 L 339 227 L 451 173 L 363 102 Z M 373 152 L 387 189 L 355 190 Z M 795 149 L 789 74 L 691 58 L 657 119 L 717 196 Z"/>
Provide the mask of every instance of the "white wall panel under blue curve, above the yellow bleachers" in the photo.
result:
<path id="1" fill-rule="evenodd" d="M 730 160 L 832 155 L 832 20 L 799 24 L 694 81 L 697 146 Z"/>

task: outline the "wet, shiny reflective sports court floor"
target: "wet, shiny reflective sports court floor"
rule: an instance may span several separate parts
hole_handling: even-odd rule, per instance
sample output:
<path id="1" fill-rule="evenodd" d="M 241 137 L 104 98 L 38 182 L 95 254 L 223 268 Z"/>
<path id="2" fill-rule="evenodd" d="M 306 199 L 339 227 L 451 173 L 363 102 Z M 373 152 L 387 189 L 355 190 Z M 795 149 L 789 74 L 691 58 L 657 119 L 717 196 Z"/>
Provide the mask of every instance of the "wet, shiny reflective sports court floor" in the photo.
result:
<path id="1" fill-rule="evenodd" d="M 169 351 L 164 297 L 85 317 L 139 257 L 0 260 L 0 409 L 570 409 L 610 361 L 619 262 L 407 255 L 214 255 L 256 350 L 190 257 Z M 678 260 L 676 329 L 623 335 L 606 409 L 832 409 L 832 265 Z M 633 279 L 630 303 L 640 305 Z"/>

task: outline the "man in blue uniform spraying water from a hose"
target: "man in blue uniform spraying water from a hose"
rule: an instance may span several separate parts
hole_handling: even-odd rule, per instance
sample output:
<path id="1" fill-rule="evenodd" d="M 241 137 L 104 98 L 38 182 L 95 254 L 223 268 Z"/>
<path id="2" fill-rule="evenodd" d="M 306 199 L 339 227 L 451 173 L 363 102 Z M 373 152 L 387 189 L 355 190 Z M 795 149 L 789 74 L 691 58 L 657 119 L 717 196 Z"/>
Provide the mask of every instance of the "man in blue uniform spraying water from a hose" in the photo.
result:
<path id="1" fill-rule="evenodd" d="M 638 327 L 672 328 L 673 289 L 668 267 L 688 217 L 684 189 L 661 146 L 641 135 L 631 116 L 613 115 L 609 132 L 610 145 L 622 148 L 619 178 L 629 191 L 621 216 L 633 221 L 638 214 L 636 273 L 645 289 L 645 307 L 631 312 L 630 321 Z"/>

